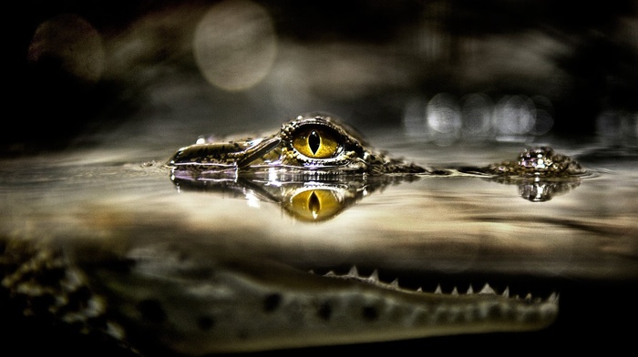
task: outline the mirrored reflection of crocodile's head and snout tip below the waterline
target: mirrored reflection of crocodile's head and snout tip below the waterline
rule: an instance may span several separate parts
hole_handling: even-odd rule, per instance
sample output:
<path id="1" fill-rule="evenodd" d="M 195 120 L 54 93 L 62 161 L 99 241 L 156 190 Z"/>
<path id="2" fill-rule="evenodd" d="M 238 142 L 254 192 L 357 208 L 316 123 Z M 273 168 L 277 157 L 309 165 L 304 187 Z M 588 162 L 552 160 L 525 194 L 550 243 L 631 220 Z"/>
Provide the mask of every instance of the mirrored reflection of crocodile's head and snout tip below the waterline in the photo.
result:
<path id="1" fill-rule="evenodd" d="M 479 168 L 462 169 L 474 173 L 479 170 Z M 450 178 L 463 176 L 460 171 L 451 169 L 439 170 L 438 172 L 442 173 L 440 176 L 449 176 Z M 436 177 L 437 175 L 427 176 Z M 250 179 L 238 176 L 235 172 L 227 175 L 198 176 L 193 175 L 190 171 L 173 169 L 170 174 L 170 179 L 180 191 L 219 192 L 224 196 L 247 199 L 249 205 L 255 205 L 257 201 L 273 202 L 279 204 L 286 213 L 295 219 L 314 222 L 332 219 L 344 209 L 355 205 L 376 191 L 382 191 L 388 185 L 414 182 L 420 178 L 420 176 L 415 175 L 371 178 L 346 176 L 341 179 L 314 177 L 307 181 L 286 181 Z M 486 180 L 516 185 L 519 196 L 531 202 L 548 201 L 577 188 L 581 184 L 580 177 L 512 178 L 494 176 Z"/>

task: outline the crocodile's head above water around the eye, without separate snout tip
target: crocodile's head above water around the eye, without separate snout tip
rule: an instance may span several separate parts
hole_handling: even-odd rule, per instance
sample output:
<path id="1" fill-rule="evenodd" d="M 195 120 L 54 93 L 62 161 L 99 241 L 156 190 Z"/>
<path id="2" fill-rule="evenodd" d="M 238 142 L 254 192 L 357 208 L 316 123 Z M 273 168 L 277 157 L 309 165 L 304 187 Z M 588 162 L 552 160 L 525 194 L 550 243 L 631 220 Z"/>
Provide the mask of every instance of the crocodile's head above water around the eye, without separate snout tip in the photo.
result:
<path id="1" fill-rule="evenodd" d="M 339 119 L 324 114 L 296 117 L 263 138 L 197 143 L 180 148 L 167 164 L 180 172 L 243 173 L 422 173 L 426 169 L 370 148 Z"/>

